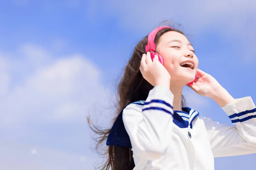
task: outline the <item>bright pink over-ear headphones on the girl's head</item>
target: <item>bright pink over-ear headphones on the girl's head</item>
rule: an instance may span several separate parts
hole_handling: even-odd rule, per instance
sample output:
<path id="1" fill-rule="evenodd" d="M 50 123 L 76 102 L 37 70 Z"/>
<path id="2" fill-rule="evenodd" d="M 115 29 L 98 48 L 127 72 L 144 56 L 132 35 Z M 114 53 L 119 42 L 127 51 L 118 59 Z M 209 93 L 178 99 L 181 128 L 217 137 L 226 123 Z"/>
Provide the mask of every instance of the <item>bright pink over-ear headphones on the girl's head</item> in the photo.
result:
<path id="1" fill-rule="evenodd" d="M 160 56 L 160 54 L 155 52 L 156 51 L 156 45 L 154 43 L 154 39 L 155 39 L 158 31 L 160 31 L 163 28 L 173 29 L 172 27 L 168 27 L 168 26 L 161 26 L 161 27 L 158 27 L 158 28 L 154 29 L 154 31 L 152 31 L 148 34 L 148 45 L 146 45 L 146 52 L 150 51 L 151 59 L 153 60 L 154 56 L 157 55 L 161 64 L 163 64 L 163 58 Z M 196 79 L 196 74 L 195 74 L 195 79 Z M 186 85 L 192 84 L 195 81 L 195 79 L 192 82 L 190 82 Z"/>

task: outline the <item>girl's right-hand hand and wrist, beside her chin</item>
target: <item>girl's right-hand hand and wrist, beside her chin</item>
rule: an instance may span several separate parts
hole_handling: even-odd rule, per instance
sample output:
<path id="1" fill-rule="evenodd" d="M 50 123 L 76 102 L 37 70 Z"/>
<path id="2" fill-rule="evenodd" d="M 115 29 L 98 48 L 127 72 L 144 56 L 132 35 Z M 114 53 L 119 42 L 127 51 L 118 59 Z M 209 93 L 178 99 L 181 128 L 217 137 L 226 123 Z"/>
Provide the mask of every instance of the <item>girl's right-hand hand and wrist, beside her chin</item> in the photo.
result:
<path id="1" fill-rule="evenodd" d="M 198 69 L 195 82 L 188 85 L 197 94 L 209 97 L 220 106 L 234 102 L 235 99 L 210 74 Z"/>

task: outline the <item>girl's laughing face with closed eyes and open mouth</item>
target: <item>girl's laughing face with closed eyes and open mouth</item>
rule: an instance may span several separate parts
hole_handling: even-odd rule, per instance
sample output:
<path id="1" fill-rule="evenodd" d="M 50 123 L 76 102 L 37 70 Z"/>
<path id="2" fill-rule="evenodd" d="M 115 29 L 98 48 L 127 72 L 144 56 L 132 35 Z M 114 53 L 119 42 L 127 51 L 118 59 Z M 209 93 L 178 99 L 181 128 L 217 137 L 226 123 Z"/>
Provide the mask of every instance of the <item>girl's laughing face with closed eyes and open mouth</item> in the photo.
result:
<path id="1" fill-rule="evenodd" d="M 156 52 L 163 57 L 164 67 L 171 80 L 186 85 L 195 79 L 198 58 L 193 46 L 183 34 L 176 31 L 166 32 L 160 37 Z"/>

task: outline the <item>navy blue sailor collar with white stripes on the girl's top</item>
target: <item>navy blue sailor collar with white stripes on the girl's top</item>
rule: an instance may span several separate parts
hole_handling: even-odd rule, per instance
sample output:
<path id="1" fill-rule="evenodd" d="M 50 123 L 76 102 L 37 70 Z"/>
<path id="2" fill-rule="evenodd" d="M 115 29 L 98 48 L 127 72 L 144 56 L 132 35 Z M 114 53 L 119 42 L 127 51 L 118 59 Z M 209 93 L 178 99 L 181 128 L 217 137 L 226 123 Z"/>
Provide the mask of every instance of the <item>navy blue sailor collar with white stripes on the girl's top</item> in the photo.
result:
<path id="1" fill-rule="evenodd" d="M 134 102 L 132 104 L 137 105 L 144 105 L 145 101 L 138 101 Z M 122 113 L 119 113 L 119 115 L 116 118 L 116 121 L 114 122 L 110 133 L 108 134 L 107 138 L 107 145 L 117 145 L 120 147 L 131 147 L 131 140 L 130 137 L 125 130 L 125 125 L 122 120 Z M 182 111 L 174 111 L 173 114 L 173 122 L 175 125 L 177 125 L 180 128 L 188 128 L 190 125 L 190 128 L 192 128 L 192 122 L 193 120 L 199 115 L 199 113 L 191 108 L 184 107 L 182 108 Z"/>

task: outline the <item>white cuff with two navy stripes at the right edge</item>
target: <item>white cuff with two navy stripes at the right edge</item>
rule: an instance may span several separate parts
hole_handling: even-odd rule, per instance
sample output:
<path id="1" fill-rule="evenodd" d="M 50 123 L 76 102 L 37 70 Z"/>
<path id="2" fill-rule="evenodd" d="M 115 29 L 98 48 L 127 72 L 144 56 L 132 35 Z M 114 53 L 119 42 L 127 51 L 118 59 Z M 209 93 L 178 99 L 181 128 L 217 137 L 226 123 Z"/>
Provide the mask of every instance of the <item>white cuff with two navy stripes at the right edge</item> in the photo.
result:
<path id="1" fill-rule="evenodd" d="M 251 97 L 236 99 L 236 102 L 222 107 L 233 124 L 256 118 L 256 108 Z"/>

